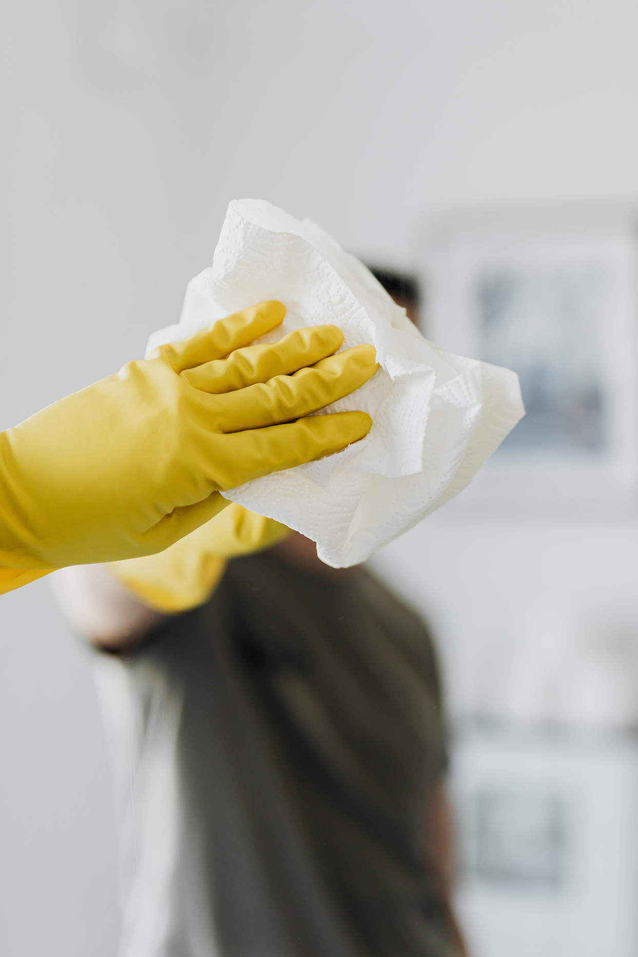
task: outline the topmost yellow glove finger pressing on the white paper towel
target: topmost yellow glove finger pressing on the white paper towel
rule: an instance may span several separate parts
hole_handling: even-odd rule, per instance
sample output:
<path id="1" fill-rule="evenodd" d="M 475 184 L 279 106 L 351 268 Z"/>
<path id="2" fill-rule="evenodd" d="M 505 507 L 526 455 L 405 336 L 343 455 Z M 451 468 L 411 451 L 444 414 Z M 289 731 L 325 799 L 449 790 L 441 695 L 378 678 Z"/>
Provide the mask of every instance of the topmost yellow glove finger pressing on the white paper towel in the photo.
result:
<path id="1" fill-rule="evenodd" d="M 200 366 L 214 359 L 222 359 L 233 349 L 250 345 L 283 322 L 286 307 L 282 302 L 259 302 L 226 319 L 220 319 L 208 329 L 202 329 L 181 343 L 160 345 L 149 358 L 163 355 L 176 372 Z"/>

